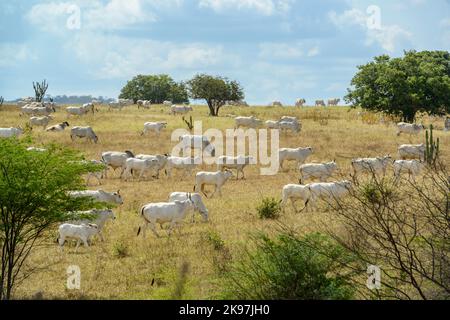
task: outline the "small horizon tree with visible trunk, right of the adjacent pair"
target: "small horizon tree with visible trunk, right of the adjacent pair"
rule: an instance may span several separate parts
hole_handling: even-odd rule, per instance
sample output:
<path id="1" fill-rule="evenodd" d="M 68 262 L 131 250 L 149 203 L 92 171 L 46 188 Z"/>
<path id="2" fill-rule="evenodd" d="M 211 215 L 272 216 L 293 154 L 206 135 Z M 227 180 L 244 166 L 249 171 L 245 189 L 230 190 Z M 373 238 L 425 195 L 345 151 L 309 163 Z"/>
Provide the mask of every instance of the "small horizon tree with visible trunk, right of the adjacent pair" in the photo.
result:
<path id="1" fill-rule="evenodd" d="M 244 99 L 244 91 L 237 81 L 227 78 L 198 74 L 187 82 L 192 99 L 204 99 L 209 107 L 211 116 L 218 116 L 219 109 L 227 101 Z"/>

